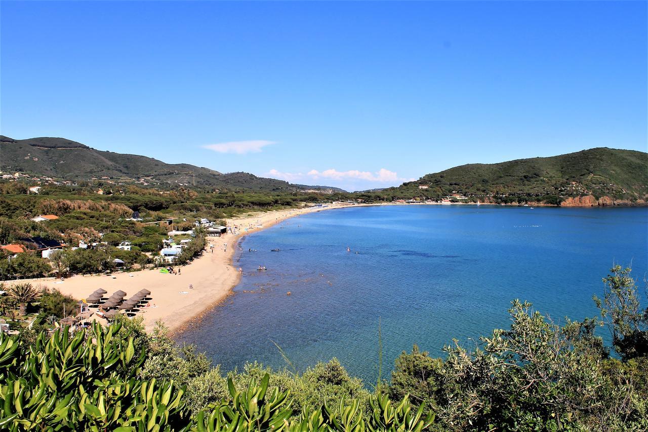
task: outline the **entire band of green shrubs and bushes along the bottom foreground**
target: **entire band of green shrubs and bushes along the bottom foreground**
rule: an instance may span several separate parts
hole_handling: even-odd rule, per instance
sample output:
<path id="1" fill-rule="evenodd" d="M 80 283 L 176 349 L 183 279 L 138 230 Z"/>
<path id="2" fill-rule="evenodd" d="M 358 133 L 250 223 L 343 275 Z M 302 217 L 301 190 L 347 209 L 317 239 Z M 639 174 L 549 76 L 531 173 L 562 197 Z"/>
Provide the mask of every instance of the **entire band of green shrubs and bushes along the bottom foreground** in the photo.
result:
<path id="1" fill-rule="evenodd" d="M 417 347 L 375 392 L 335 359 L 303 372 L 223 376 L 158 327 L 118 320 L 71 335 L 0 335 L 0 428 L 88 431 L 646 431 L 648 309 L 629 269 L 597 301 L 620 359 L 594 332 L 514 301 L 509 330 L 445 359 Z"/>

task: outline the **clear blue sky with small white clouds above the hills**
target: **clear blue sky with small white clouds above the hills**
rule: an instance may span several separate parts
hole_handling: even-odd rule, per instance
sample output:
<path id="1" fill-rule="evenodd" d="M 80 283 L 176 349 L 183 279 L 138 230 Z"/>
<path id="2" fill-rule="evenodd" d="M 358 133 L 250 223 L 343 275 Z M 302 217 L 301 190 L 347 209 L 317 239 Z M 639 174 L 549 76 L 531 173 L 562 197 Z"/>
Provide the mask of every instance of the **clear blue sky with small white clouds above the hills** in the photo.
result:
<path id="1" fill-rule="evenodd" d="M 0 133 L 367 189 L 647 150 L 647 3 L 2 1 Z"/>

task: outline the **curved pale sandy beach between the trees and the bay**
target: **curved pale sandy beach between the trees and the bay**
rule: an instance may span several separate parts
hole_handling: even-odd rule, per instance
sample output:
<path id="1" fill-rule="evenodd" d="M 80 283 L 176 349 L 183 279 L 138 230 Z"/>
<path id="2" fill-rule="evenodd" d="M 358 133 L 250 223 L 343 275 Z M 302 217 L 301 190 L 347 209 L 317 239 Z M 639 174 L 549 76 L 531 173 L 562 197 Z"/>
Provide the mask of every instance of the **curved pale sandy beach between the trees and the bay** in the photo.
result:
<path id="1" fill-rule="evenodd" d="M 86 298 L 98 288 L 108 291 L 109 296 L 121 289 L 127 293 L 126 298 L 141 289 L 149 289 L 152 293 L 150 301 L 152 306 L 142 308 L 137 313 L 137 316 L 144 318 L 146 330 L 151 331 L 157 320 L 161 320 L 170 331 L 179 331 L 192 319 L 200 317 L 205 311 L 222 302 L 237 285 L 240 274 L 232 261 L 241 237 L 290 217 L 348 206 L 350 204 L 336 203 L 325 208 L 308 207 L 248 213 L 243 217 L 228 219 L 227 225 L 237 226 L 240 235 L 224 234 L 221 237 L 207 237 L 209 245 L 203 255 L 194 259 L 189 265 L 179 267 L 180 274 L 165 274 L 159 269 L 149 269 L 137 272 L 115 272 L 110 276 L 78 275 L 64 281 L 41 278 L 30 282 L 56 288 L 76 299 Z M 227 247 L 224 244 L 227 244 Z M 213 252 L 210 245 L 214 246 Z M 192 288 L 189 285 L 192 285 Z M 103 318 L 95 319 L 105 322 Z"/>

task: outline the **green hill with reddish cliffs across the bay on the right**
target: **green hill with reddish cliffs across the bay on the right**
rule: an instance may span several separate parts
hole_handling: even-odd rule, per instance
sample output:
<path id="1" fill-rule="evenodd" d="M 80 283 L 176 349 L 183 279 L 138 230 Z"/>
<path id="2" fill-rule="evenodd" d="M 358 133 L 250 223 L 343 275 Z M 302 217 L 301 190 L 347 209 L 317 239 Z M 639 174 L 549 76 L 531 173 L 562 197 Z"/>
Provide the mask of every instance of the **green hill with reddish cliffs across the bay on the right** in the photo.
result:
<path id="1" fill-rule="evenodd" d="M 427 174 L 415 182 L 386 191 L 435 198 L 448 195 L 492 198 L 505 202 L 518 198 L 574 202 L 575 197 L 592 197 L 590 204 L 601 204 L 601 199 L 607 198 L 645 201 L 648 198 L 648 153 L 601 147 L 548 158 L 470 163 Z"/>

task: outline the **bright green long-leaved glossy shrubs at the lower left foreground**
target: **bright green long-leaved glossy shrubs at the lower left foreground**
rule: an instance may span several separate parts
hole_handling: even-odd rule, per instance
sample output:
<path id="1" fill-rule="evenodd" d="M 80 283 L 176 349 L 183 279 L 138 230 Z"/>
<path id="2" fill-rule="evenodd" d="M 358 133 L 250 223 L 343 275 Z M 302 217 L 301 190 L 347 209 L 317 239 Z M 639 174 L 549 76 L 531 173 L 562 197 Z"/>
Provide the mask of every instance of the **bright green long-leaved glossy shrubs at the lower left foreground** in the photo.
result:
<path id="1" fill-rule="evenodd" d="M 318 411 L 294 416 L 289 391 L 268 391 L 270 375 L 237 389 L 227 379 L 229 400 L 191 415 L 185 387 L 173 380 L 138 378 L 146 350 L 122 324 L 70 335 L 44 333 L 32 344 L 0 335 L 0 426 L 21 430 L 87 431 L 421 431 L 432 423 L 424 407 L 406 399 L 393 405 L 386 396 L 369 400 L 366 419 L 358 400 L 323 403 Z"/>

